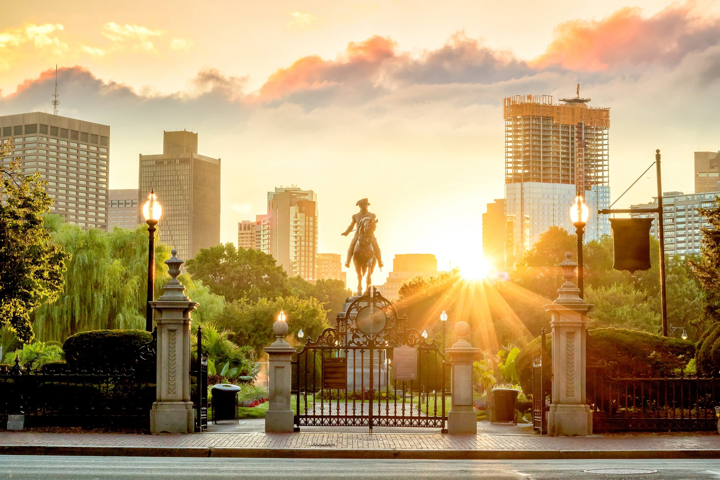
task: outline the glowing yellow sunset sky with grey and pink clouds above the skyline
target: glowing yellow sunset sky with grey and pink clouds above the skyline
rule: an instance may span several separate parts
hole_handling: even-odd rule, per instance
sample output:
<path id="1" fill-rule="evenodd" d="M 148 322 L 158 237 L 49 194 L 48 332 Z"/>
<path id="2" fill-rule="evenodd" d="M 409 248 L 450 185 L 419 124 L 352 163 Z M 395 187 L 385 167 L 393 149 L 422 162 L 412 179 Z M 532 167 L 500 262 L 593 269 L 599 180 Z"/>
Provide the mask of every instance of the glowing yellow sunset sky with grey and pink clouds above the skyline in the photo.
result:
<path id="1" fill-rule="evenodd" d="M 221 240 L 266 192 L 318 194 L 319 251 L 369 198 L 386 267 L 434 253 L 477 263 L 503 196 L 502 101 L 610 107 L 611 201 L 662 151 L 665 191 L 693 190 L 720 150 L 720 2 L 0 0 L 0 114 L 108 124 L 111 189 L 136 188 L 163 130 L 222 159 Z M 649 178 L 647 178 L 649 177 Z M 650 201 L 648 174 L 616 207 Z"/>

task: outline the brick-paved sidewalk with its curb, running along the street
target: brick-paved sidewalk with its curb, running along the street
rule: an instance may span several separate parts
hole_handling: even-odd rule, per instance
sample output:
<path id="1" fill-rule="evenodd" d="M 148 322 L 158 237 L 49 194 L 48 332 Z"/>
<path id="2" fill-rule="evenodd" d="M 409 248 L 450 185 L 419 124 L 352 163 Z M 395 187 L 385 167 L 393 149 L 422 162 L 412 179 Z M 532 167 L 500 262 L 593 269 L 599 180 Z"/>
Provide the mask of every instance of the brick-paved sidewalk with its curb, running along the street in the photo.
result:
<path id="1" fill-rule="evenodd" d="M 408 433 L 408 429 L 371 435 L 334 433 L 336 430 L 327 428 L 273 434 L 254 427 L 249 430 L 255 431 L 247 433 L 222 429 L 194 435 L 0 432 L 0 453 L 296 458 L 720 458 L 720 435 L 553 438 L 532 435 L 518 427 L 507 428 L 506 433 L 478 435 L 447 435 L 437 431 Z"/>

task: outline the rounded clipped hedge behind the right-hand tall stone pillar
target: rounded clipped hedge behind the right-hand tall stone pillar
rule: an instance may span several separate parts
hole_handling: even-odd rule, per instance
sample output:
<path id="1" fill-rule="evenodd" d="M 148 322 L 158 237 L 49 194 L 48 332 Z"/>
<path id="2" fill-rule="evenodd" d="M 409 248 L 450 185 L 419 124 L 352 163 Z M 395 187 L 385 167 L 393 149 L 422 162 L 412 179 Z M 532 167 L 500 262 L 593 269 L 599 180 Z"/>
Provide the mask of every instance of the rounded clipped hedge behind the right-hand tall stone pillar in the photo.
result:
<path id="1" fill-rule="evenodd" d="M 613 375 L 671 376 L 695 356 L 695 345 L 689 340 L 624 328 L 590 330 L 586 348 L 588 361 L 604 361 Z M 552 372 L 552 335 L 546 335 L 545 352 L 544 370 Z M 537 356 L 539 337 L 528 343 L 515 360 L 520 385 L 526 393 L 532 391 L 532 359 Z M 549 383 L 546 389 L 549 391 Z"/>

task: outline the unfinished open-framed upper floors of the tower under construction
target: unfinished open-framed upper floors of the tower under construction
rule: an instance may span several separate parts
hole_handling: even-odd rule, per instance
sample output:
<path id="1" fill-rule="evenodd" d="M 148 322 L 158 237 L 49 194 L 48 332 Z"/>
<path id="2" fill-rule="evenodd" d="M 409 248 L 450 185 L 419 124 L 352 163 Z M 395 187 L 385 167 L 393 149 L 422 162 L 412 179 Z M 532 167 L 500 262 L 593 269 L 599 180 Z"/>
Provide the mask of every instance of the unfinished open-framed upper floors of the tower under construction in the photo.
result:
<path id="1" fill-rule="evenodd" d="M 590 99 L 553 101 L 551 95 L 503 100 L 505 183 L 575 184 L 577 191 L 608 186 L 610 109 Z"/>

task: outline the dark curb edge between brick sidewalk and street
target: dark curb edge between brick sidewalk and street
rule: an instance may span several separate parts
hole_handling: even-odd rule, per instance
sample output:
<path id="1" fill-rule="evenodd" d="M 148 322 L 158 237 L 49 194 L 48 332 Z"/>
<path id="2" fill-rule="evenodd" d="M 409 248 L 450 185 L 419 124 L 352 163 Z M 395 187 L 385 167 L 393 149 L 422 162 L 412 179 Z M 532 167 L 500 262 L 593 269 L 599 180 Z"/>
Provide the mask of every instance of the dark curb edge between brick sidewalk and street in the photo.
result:
<path id="1" fill-rule="evenodd" d="M 0 455 L 137 456 L 193 458 L 351 458 L 371 460 L 716 459 L 720 450 L 351 450 L 317 448 L 121 447 L 0 445 Z"/>

